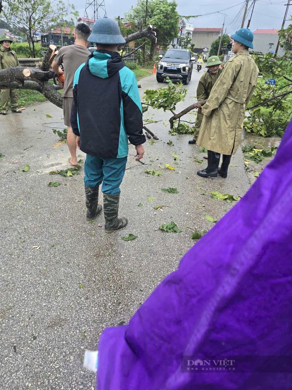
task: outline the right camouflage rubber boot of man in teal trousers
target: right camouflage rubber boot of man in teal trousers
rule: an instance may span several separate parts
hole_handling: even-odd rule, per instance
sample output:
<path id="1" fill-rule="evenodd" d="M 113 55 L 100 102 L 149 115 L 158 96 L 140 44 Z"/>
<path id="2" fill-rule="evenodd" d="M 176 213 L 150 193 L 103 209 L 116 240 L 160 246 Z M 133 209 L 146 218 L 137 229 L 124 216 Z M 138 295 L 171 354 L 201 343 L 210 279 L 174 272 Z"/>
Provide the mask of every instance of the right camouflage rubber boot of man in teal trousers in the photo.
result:
<path id="1" fill-rule="evenodd" d="M 120 194 L 104 194 L 104 219 L 106 223 L 104 230 L 106 233 L 112 233 L 114 230 L 125 227 L 128 223 L 127 218 L 118 218 Z"/>

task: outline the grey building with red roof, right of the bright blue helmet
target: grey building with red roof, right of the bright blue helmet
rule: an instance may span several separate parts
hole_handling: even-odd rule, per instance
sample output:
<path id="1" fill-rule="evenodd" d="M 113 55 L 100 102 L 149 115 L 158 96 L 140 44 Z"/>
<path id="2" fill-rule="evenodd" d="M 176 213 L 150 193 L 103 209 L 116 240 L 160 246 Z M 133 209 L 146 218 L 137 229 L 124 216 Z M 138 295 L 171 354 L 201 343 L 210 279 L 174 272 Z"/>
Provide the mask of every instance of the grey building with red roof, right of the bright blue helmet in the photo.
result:
<path id="1" fill-rule="evenodd" d="M 253 31 L 253 51 L 266 54 L 275 52 L 279 41 L 278 30 L 255 30 Z M 279 46 L 278 55 L 283 56 L 285 51 Z"/>

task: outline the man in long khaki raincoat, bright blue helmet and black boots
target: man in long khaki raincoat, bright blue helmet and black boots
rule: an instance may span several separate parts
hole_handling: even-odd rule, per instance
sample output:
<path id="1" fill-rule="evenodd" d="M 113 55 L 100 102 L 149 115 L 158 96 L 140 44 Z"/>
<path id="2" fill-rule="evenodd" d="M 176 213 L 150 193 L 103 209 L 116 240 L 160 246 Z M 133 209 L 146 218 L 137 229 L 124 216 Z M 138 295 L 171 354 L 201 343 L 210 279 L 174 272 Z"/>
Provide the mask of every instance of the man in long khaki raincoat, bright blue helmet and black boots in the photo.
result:
<path id="1" fill-rule="evenodd" d="M 257 85 L 259 69 L 249 48 L 253 49 L 253 33 L 241 28 L 232 35 L 234 57 L 225 64 L 206 104 L 197 145 L 208 149 L 208 167 L 198 171 L 202 177 L 227 177 L 232 156 L 241 140 L 245 110 Z M 221 168 L 218 169 L 220 154 L 223 154 Z"/>

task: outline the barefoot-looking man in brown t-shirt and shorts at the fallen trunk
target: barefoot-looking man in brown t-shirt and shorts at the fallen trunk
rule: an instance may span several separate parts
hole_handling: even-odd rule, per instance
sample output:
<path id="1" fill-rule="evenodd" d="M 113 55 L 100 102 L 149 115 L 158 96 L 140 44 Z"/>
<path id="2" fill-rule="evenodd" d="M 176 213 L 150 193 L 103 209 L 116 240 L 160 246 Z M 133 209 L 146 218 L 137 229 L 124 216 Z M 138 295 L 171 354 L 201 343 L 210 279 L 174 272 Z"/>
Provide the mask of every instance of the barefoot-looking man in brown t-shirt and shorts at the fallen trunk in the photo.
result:
<path id="1" fill-rule="evenodd" d="M 73 101 L 73 80 L 75 72 L 79 66 L 84 64 L 87 57 L 91 54 L 90 51 L 87 50 L 87 39 L 89 35 L 90 28 L 84 23 L 79 23 L 76 26 L 74 33 L 75 44 L 60 48 L 52 64 L 52 69 L 56 74 L 61 75 L 64 73 L 65 76 L 63 89 L 63 113 L 64 123 L 68 128 L 67 144 L 71 154 L 71 157 L 69 158 L 69 163 L 71 165 L 77 165 L 76 136 L 73 134 L 70 124 L 70 114 Z M 64 72 L 59 67 L 62 63 Z"/>

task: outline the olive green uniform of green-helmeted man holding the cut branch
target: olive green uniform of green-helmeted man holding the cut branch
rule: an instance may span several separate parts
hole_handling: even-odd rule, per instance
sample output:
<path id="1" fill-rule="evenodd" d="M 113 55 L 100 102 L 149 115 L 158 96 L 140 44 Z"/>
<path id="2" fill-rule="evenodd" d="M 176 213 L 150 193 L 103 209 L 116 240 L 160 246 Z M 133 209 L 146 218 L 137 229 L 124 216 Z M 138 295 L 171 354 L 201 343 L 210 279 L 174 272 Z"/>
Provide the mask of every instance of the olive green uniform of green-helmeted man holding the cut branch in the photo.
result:
<path id="1" fill-rule="evenodd" d="M 218 71 L 215 74 L 210 74 L 209 71 L 207 71 L 202 75 L 197 87 L 197 101 L 208 99 L 211 89 L 213 88 L 213 85 L 215 84 L 217 78 L 222 73 L 222 70 L 223 69 L 219 67 Z M 194 140 L 197 140 L 198 138 L 202 119 L 202 109 L 198 108 L 197 119 L 195 123 L 195 133 L 193 134 Z"/>

